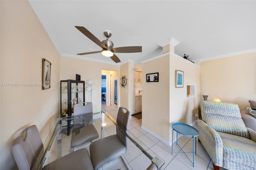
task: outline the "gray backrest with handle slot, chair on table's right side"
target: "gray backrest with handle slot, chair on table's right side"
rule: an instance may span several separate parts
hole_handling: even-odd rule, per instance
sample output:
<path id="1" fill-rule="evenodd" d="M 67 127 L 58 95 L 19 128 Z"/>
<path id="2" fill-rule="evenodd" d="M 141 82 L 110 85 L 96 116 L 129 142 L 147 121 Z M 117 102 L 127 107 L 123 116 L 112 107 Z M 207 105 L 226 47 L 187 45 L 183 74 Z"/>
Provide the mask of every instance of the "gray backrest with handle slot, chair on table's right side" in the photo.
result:
<path id="1" fill-rule="evenodd" d="M 130 121 L 131 113 L 128 111 L 128 109 L 124 107 L 119 107 L 118 114 L 117 114 L 117 125 L 122 126 L 126 128 L 126 130 L 129 127 L 129 121 Z M 121 140 L 121 142 L 126 147 L 126 150 L 128 148 L 128 138 L 123 134 L 118 127 L 116 127 L 116 135 Z"/>

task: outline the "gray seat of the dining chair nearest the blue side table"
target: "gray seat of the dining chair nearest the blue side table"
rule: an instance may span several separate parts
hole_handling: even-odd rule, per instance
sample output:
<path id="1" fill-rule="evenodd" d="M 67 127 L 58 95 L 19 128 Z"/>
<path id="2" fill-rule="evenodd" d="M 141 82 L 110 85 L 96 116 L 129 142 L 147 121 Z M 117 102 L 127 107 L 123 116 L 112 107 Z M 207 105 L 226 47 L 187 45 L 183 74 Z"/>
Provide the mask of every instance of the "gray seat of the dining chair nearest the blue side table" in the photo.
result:
<path id="1" fill-rule="evenodd" d="M 90 144 L 90 155 L 95 170 L 122 156 L 125 152 L 126 147 L 116 134 L 96 140 Z"/>

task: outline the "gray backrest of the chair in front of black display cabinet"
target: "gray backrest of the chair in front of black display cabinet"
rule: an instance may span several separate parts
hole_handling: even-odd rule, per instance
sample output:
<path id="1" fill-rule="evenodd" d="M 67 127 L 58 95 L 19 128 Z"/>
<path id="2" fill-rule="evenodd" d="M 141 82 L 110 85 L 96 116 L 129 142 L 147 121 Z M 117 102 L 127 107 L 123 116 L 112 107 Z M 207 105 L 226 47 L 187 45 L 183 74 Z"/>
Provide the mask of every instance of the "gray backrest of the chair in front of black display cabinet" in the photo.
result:
<path id="1" fill-rule="evenodd" d="M 92 125 L 92 102 L 85 103 L 86 105 L 81 105 L 80 103 L 74 105 L 74 121 L 73 128 L 84 127 L 84 125 Z M 77 115 L 85 115 L 87 116 L 76 117 Z"/>

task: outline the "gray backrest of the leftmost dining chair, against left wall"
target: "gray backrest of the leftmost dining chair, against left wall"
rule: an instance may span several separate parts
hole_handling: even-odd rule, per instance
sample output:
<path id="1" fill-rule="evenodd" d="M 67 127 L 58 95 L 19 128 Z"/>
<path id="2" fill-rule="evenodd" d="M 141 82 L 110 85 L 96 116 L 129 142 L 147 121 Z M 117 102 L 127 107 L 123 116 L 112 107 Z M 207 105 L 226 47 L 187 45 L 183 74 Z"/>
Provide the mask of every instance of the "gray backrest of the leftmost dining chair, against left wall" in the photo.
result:
<path id="1" fill-rule="evenodd" d="M 23 132 L 26 132 L 24 140 Z M 32 125 L 23 132 L 12 146 L 14 159 L 20 170 L 37 169 L 44 156 L 44 146 L 39 131 L 36 125 Z"/>

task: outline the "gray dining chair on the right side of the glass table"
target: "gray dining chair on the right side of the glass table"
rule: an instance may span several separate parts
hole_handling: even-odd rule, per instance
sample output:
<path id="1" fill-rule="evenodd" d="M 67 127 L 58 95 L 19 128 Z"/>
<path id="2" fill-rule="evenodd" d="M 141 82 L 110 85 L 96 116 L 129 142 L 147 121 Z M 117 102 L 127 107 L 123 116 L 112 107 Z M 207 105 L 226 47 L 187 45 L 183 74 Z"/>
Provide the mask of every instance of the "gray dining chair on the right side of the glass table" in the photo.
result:
<path id="1" fill-rule="evenodd" d="M 120 127 L 124 127 L 123 130 L 128 129 L 130 117 L 130 111 L 120 107 L 116 119 L 118 125 L 116 126 L 116 134 L 98 139 L 90 144 L 90 156 L 95 170 L 126 152 L 128 138 L 121 132 Z"/>

